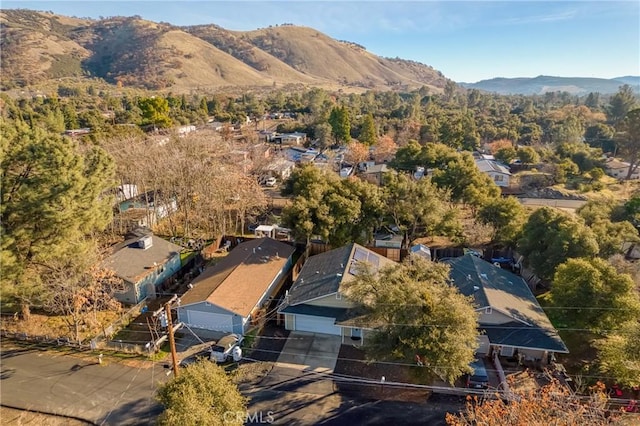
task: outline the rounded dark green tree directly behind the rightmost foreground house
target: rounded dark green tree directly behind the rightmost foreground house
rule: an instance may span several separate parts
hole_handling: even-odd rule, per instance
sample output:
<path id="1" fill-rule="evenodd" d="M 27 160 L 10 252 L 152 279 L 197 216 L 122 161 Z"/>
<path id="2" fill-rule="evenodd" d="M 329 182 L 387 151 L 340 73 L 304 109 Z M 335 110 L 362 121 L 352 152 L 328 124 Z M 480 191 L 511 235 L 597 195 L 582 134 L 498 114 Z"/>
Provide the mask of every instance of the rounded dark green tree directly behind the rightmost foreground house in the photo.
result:
<path id="1" fill-rule="evenodd" d="M 567 259 L 593 257 L 599 251 L 595 235 L 584 222 L 552 207 L 533 212 L 522 228 L 518 252 L 544 280 Z"/>

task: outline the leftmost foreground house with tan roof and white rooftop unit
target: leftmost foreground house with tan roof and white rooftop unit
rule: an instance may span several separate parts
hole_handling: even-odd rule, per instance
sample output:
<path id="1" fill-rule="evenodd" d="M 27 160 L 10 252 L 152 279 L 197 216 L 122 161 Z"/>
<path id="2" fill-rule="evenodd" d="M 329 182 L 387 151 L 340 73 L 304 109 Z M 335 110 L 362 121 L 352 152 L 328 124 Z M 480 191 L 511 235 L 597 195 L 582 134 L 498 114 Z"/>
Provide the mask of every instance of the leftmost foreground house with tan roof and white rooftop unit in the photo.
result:
<path id="1" fill-rule="evenodd" d="M 124 291 L 116 293 L 116 299 L 126 304 L 154 299 L 182 268 L 181 252 L 182 247 L 149 231 L 132 233 L 102 263 L 124 281 Z"/>

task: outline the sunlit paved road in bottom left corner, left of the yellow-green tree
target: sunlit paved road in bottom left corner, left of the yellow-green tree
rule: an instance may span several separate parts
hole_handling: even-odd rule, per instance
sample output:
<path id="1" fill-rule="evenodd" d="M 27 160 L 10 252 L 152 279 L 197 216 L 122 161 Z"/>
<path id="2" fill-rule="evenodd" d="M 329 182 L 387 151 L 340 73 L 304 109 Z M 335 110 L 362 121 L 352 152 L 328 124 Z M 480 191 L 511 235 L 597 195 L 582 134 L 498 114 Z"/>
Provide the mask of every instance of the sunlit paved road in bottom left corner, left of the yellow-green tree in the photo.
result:
<path id="1" fill-rule="evenodd" d="M 153 395 L 167 370 L 151 361 L 144 364 L 99 365 L 97 359 L 3 348 L 2 404 L 100 425 L 154 424 L 161 407 Z"/>

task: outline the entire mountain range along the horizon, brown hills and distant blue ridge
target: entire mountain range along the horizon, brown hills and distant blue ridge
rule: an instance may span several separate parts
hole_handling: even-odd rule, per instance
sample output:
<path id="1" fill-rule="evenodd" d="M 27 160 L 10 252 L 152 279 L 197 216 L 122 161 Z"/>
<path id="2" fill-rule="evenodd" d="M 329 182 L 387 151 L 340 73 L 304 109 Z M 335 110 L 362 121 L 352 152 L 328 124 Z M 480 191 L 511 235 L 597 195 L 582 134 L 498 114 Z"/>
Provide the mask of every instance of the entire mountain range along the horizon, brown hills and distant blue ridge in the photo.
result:
<path id="1" fill-rule="evenodd" d="M 451 82 L 416 61 L 385 58 L 363 46 L 289 24 L 231 31 L 215 24 L 174 26 L 139 16 L 85 19 L 28 9 L 0 11 L 0 87 L 100 78 L 110 84 L 172 92 L 232 88 L 324 87 L 332 90 L 442 92 Z M 500 94 L 566 91 L 640 92 L 640 77 L 495 78 L 458 83 Z"/>

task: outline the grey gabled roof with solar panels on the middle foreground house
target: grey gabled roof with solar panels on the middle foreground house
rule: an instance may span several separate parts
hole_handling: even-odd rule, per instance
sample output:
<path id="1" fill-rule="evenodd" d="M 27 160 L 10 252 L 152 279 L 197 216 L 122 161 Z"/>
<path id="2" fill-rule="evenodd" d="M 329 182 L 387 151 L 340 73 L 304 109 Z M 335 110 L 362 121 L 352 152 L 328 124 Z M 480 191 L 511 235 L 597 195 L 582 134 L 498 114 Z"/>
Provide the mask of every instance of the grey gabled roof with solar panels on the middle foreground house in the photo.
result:
<path id="1" fill-rule="evenodd" d="M 288 304 L 298 305 L 336 293 L 343 282 L 353 279 L 359 262 L 368 262 L 375 268 L 395 263 L 356 243 L 311 256 L 289 290 Z"/>

